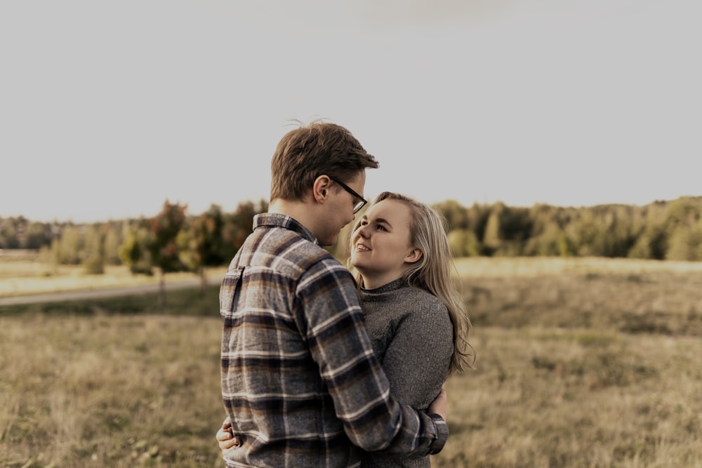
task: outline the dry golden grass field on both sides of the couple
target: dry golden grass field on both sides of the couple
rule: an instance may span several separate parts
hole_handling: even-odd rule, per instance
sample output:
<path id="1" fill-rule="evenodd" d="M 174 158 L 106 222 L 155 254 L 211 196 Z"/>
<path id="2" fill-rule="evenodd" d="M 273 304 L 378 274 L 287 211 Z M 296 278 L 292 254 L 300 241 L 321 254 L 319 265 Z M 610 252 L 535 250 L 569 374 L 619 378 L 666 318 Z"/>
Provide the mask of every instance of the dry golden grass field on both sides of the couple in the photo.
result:
<path id="1" fill-rule="evenodd" d="M 433 467 L 702 467 L 701 265 L 457 266 L 477 362 Z M 216 295 L 0 307 L 0 467 L 221 468 Z"/>

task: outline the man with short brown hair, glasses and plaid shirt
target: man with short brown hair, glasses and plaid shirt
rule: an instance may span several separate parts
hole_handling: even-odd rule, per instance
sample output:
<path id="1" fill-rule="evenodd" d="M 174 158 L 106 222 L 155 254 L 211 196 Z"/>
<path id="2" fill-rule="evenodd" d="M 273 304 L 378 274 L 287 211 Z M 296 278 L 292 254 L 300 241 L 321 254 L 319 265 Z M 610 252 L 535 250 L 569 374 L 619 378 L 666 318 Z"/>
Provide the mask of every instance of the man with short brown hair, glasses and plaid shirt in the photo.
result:
<path id="1" fill-rule="evenodd" d="M 222 396 L 237 448 L 227 467 L 348 467 L 358 448 L 438 453 L 445 394 L 419 413 L 390 397 L 350 272 L 322 246 L 366 201 L 378 161 L 345 128 L 290 131 L 271 162 L 270 205 L 220 288 Z"/>

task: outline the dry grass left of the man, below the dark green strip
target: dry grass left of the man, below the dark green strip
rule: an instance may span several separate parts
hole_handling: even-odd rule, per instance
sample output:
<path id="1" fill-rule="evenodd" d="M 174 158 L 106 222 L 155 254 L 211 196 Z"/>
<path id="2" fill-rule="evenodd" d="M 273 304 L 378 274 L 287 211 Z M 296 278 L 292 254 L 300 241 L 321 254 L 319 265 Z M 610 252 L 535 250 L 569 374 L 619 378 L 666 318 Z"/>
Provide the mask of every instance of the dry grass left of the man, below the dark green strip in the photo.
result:
<path id="1" fill-rule="evenodd" d="M 0 321 L 0 467 L 222 466 L 218 316 Z"/>

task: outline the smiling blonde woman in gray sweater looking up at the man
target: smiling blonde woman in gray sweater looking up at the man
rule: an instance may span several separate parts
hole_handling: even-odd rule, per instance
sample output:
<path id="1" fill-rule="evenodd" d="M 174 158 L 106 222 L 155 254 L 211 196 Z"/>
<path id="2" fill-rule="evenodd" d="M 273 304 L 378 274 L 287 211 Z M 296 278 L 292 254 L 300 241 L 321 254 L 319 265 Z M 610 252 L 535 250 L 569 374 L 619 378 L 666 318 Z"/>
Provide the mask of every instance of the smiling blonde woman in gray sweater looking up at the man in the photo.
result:
<path id="1" fill-rule="evenodd" d="M 391 394 L 425 410 L 446 377 L 475 357 L 442 218 L 424 203 L 383 192 L 352 231 L 349 264 Z M 217 434 L 223 450 L 235 445 L 226 428 L 227 421 Z M 362 466 L 430 467 L 430 460 L 365 453 Z"/>

